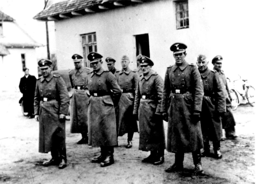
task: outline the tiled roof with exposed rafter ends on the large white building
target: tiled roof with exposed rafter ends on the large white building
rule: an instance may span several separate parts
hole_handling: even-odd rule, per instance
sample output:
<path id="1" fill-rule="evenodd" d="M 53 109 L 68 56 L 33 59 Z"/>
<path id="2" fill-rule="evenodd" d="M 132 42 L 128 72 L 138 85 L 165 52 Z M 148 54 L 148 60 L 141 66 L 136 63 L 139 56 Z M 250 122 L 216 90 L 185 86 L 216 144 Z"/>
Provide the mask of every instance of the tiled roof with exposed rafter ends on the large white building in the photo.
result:
<path id="1" fill-rule="evenodd" d="M 74 15 L 71 12 L 76 12 L 81 15 L 85 15 L 87 13 L 96 13 L 101 11 L 106 11 L 108 9 L 118 8 L 120 6 L 129 6 L 132 4 L 148 2 L 152 0 L 66 0 L 57 2 L 49 5 L 48 7 L 41 12 L 39 12 L 34 19 L 38 20 L 48 20 L 48 17 L 52 17 L 55 21 L 63 19 L 59 14 L 65 16 L 65 18 L 72 18 Z M 114 3 L 118 3 L 114 4 Z M 105 6 L 105 8 L 101 9 L 100 6 Z M 86 8 L 90 9 L 90 12 L 86 12 Z"/>

